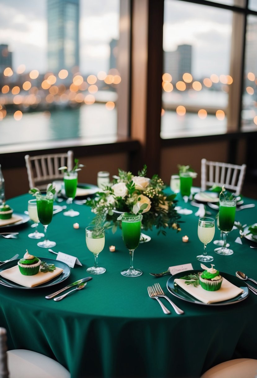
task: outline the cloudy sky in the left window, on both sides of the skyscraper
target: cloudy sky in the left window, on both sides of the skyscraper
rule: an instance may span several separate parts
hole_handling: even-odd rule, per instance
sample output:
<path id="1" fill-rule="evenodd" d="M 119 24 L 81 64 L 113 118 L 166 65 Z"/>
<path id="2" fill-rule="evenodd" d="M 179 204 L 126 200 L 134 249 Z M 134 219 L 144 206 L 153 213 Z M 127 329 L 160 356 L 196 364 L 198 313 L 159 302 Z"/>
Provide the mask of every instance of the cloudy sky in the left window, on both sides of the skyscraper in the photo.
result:
<path id="1" fill-rule="evenodd" d="M 0 0 L 0 44 L 8 44 L 13 66 L 47 71 L 46 0 Z M 80 0 L 80 70 L 109 69 L 109 43 L 119 37 L 119 0 Z"/>

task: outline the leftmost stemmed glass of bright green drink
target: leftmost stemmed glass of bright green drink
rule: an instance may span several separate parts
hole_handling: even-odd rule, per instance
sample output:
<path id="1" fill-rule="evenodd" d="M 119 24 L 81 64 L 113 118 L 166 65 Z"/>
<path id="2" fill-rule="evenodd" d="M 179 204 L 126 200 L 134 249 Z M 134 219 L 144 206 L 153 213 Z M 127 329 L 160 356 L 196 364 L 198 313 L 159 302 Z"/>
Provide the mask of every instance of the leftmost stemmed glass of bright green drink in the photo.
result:
<path id="1" fill-rule="evenodd" d="M 52 193 L 46 195 L 37 193 L 36 198 L 38 219 L 44 226 L 44 241 L 38 242 L 37 245 L 41 248 L 52 248 L 56 243 L 47 239 L 46 230 L 53 217 L 54 195 Z"/>

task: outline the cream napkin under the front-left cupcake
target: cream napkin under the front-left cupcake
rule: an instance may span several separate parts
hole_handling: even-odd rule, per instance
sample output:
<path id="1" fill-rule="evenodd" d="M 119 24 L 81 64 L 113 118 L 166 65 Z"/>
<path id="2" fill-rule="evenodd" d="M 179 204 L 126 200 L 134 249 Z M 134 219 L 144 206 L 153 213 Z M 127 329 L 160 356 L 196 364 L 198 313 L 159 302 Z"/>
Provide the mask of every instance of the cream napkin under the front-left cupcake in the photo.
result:
<path id="1" fill-rule="evenodd" d="M 62 271 L 63 269 L 56 267 L 53 272 L 43 273 L 39 270 L 39 272 L 34 274 L 34 276 L 23 276 L 23 274 L 20 273 L 18 265 L 15 265 L 12 268 L 0 272 L 0 276 L 12 282 L 18 283 L 21 286 L 34 287 L 51 280 L 52 278 L 58 276 Z"/>

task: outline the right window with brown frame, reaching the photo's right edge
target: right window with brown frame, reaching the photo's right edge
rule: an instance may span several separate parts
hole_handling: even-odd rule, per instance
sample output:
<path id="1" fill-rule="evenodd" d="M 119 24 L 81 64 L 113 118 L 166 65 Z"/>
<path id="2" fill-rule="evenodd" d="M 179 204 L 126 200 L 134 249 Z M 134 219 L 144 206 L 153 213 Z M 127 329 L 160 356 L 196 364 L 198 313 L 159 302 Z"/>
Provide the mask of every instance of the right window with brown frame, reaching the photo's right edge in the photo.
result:
<path id="1" fill-rule="evenodd" d="M 216 3 L 215 6 L 210 6 L 210 3 L 203 5 L 202 2 L 197 4 L 196 1 L 164 2 L 163 139 L 222 134 L 236 131 L 241 124 L 240 77 L 243 71 L 240 60 L 243 56 L 243 21 L 247 9 L 243 0 L 213 3 Z M 257 46 L 254 45 L 257 28 L 254 29 L 254 16 L 248 17 L 247 71 L 250 62 L 252 67 L 257 64 Z M 257 75 L 257 72 L 253 74 Z M 255 85 L 254 80 L 255 76 L 252 82 Z M 256 102 L 253 86 L 247 89 L 247 85 L 251 87 L 245 82 L 241 117 L 242 125 L 249 123 L 252 126 L 257 115 Z M 234 100 L 235 91 L 237 102 Z M 237 117 L 235 108 L 239 109 Z M 253 127 L 256 130 L 255 125 Z"/>

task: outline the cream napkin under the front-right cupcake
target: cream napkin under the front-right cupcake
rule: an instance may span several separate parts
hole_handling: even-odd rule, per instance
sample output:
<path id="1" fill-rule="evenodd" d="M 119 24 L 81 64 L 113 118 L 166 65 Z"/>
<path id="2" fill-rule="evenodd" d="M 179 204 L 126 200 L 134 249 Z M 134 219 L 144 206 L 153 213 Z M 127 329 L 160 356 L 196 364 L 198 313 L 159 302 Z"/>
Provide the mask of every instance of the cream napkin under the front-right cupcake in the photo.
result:
<path id="1" fill-rule="evenodd" d="M 221 288 L 216 291 L 204 290 L 200 284 L 197 287 L 194 287 L 194 285 L 187 285 L 185 281 L 186 280 L 180 278 L 174 279 L 174 282 L 177 283 L 177 285 L 203 303 L 222 302 L 243 293 L 243 289 L 233 285 L 233 283 L 225 278 L 223 278 Z"/>

